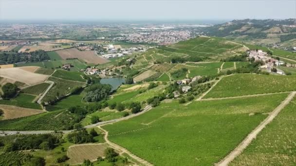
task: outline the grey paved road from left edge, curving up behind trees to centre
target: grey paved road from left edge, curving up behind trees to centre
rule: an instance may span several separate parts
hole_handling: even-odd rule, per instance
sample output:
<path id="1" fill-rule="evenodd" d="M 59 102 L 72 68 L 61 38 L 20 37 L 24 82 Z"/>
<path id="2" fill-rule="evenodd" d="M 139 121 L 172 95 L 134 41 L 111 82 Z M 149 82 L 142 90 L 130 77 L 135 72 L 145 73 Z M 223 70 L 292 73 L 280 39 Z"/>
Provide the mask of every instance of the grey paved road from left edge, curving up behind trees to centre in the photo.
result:
<path id="1" fill-rule="evenodd" d="M 135 117 L 135 116 L 139 116 L 139 115 L 142 115 L 146 112 L 148 112 L 150 109 L 152 109 L 152 107 L 150 105 L 147 105 L 143 111 L 137 113 L 137 114 L 131 114 L 129 116 L 126 116 L 126 117 L 121 117 L 121 118 L 118 118 L 118 119 L 112 119 L 112 120 L 108 120 L 108 121 L 103 121 L 103 122 L 98 122 L 98 123 L 95 123 L 95 124 L 92 124 L 92 125 L 88 125 L 88 126 L 84 126 L 84 128 L 92 128 L 92 127 L 95 127 L 95 126 L 100 126 L 100 125 L 105 125 L 105 124 L 108 124 L 108 123 L 115 123 L 115 122 L 119 122 L 119 121 L 122 121 L 122 120 L 127 120 L 129 118 L 132 118 L 132 117 Z M 61 132 L 61 133 L 70 133 L 70 132 L 73 132 L 74 130 L 62 130 L 62 131 L 58 131 L 58 132 Z M 55 131 L 0 131 L 0 136 L 3 136 L 3 135 L 14 135 L 14 134 L 45 134 L 45 133 L 55 133 Z"/>

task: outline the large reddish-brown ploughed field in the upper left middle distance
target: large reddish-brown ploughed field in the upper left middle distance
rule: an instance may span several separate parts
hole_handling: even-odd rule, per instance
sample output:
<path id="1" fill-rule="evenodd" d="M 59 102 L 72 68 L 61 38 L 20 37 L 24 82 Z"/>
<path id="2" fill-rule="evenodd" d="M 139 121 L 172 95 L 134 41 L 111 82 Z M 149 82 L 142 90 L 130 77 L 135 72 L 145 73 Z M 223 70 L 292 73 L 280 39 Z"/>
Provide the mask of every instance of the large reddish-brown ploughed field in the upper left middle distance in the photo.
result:
<path id="1" fill-rule="evenodd" d="M 77 49 L 65 49 L 65 50 L 57 50 L 56 53 L 63 59 L 67 58 L 78 58 L 87 62 L 88 64 L 105 64 L 109 62 L 109 60 L 98 56 L 94 53 L 94 51 L 79 51 Z"/>

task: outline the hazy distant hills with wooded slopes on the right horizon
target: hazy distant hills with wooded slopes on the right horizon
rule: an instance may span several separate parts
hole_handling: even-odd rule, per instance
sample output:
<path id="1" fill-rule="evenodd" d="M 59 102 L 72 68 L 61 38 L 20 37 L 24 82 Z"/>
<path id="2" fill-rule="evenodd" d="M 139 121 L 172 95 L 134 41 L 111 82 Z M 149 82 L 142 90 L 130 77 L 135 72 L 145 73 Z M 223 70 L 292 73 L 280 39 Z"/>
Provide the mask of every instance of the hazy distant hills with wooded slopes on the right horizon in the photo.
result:
<path id="1" fill-rule="evenodd" d="M 243 19 L 205 27 L 209 36 L 237 39 L 252 44 L 292 49 L 296 47 L 296 19 Z"/>

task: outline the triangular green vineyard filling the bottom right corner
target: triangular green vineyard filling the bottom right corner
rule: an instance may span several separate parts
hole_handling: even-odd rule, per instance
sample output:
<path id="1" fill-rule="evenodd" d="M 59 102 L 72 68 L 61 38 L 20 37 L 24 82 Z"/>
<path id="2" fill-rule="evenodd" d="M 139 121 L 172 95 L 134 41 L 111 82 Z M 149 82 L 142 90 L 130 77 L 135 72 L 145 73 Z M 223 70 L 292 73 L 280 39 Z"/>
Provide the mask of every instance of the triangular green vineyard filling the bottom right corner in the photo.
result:
<path id="1" fill-rule="evenodd" d="M 230 166 L 294 166 L 296 100 L 267 125 Z"/>

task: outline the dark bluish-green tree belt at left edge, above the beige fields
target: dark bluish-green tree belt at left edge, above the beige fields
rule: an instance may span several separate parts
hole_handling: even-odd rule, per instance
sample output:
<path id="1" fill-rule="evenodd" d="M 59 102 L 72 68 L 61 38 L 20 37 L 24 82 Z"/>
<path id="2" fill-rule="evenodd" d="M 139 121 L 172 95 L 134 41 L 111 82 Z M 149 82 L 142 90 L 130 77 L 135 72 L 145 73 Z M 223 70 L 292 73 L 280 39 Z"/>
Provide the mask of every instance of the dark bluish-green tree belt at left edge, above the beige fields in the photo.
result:
<path id="1" fill-rule="evenodd" d="M 50 57 L 44 50 L 36 50 L 30 53 L 0 53 L 1 64 L 13 64 L 18 62 L 38 62 L 50 60 Z"/>

